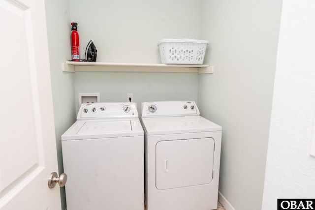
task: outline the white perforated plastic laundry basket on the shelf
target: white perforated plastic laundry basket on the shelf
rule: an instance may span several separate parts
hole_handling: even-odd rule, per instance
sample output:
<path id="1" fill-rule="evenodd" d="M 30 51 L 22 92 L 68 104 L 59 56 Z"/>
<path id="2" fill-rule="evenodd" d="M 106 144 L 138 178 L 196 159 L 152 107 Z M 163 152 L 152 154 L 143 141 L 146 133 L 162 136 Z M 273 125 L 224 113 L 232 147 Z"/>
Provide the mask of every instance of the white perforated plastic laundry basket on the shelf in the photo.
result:
<path id="1" fill-rule="evenodd" d="M 162 39 L 158 42 L 158 47 L 162 63 L 202 64 L 207 44 L 207 40 Z"/>

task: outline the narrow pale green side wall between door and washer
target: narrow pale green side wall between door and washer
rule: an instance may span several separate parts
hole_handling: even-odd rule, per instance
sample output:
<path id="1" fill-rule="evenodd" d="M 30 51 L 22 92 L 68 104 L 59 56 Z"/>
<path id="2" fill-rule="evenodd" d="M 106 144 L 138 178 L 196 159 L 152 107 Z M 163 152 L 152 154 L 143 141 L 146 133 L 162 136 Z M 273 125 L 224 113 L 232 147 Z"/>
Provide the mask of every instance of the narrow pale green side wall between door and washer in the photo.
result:
<path id="1" fill-rule="evenodd" d="M 63 72 L 61 63 L 69 60 L 70 30 L 69 2 L 64 0 L 45 0 L 46 21 L 56 143 L 59 173 L 63 173 L 61 135 L 75 121 L 73 73 Z M 40 33 L 40 31 L 38 31 Z M 61 187 L 62 209 L 65 209 L 64 187 Z"/>

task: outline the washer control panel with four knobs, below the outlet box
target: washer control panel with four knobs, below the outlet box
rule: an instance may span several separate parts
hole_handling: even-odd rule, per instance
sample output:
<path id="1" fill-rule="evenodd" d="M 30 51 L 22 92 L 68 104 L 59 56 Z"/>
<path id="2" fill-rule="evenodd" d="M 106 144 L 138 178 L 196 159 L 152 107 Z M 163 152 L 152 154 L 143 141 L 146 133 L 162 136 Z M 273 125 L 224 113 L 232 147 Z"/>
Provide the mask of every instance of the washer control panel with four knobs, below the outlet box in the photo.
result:
<path id="1" fill-rule="evenodd" d="M 138 118 L 135 103 L 84 103 L 78 112 L 77 120 Z"/>

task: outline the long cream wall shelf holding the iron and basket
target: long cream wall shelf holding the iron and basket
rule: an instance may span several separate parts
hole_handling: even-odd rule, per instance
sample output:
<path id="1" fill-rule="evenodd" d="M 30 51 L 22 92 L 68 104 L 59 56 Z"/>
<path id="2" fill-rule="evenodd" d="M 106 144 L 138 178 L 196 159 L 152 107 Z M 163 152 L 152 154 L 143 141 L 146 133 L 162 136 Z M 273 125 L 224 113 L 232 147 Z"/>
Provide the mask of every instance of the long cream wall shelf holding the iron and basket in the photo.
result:
<path id="1" fill-rule="evenodd" d="M 125 72 L 186 72 L 212 74 L 213 66 L 208 64 L 151 64 L 151 63 L 108 63 L 65 61 L 62 70 L 75 71 L 125 71 Z"/>

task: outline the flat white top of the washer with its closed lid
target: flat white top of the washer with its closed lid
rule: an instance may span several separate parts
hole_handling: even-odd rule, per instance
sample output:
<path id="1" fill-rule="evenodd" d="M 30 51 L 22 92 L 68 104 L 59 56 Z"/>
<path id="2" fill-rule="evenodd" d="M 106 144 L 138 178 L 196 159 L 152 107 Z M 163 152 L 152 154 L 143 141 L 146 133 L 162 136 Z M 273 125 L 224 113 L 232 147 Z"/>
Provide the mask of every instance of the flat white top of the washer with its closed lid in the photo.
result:
<path id="1" fill-rule="evenodd" d="M 62 140 L 143 136 L 139 119 L 77 120 Z"/>

